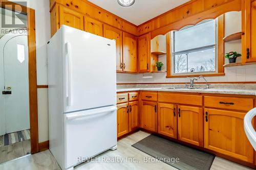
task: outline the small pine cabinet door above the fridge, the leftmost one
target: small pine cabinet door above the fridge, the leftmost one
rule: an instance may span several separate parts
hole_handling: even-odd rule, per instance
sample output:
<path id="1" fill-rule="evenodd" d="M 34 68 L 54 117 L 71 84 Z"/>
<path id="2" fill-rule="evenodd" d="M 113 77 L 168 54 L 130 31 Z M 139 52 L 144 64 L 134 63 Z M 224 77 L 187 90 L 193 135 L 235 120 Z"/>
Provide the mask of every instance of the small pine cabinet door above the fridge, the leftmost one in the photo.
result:
<path id="1" fill-rule="evenodd" d="M 83 15 L 69 8 L 59 6 L 59 27 L 70 26 L 79 30 L 83 29 Z"/>

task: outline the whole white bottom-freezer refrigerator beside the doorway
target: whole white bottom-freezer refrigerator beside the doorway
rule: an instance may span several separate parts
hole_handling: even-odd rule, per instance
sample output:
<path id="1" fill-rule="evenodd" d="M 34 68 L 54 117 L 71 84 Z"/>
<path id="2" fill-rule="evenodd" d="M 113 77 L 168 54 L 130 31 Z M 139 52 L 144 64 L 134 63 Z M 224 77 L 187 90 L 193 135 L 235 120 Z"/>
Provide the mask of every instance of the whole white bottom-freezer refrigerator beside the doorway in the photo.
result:
<path id="1" fill-rule="evenodd" d="M 61 26 L 47 48 L 50 151 L 73 169 L 116 149 L 116 44 Z"/>

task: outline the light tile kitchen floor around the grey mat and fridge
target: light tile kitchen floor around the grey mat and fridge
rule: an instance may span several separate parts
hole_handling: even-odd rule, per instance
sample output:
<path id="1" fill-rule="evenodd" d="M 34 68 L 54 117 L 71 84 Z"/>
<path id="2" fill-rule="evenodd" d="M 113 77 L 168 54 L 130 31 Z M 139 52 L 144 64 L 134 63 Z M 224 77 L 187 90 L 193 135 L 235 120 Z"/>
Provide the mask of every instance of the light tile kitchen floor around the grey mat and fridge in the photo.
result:
<path id="1" fill-rule="evenodd" d="M 97 157 L 98 162 L 85 162 L 74 169 L 95 169 L 95 170 L 122 170 L 122 169 L 176 169 L 166 163 L 163 162 L 154 162 L 154 158 L 152 162 L 143 162 L 144 157 L 150 157 L 149 155 L 135 149 L 132 147 L 132 144 L 137 141 L 147 137 L 150 135 L 149 133 L 139 131 L 134 134 L 131 134 L 125 138 L 122 138 L 118 141 L 118 149 L 115 151 L 107 151 Z M 140 161 L 141 163 L 132 163 L 130 161 L 124 161 L 122 163 L 105 163 L 103 160 L 105 158 L 135 158 L 136 161 Z M 94 160 L 95 161 L 95 160 Z M 26 169 L 26 170 L 53 170 L 60 169 L 56 160 L 52 156 L 49 150 L 40 152 L 34 155 L 29 155 L 20 159 L 16 159 L 13 161 L 9 161 L 3 164 L 0 164 L 0 169 L 2 170 L 10 170 L 10 169 Z M 220 157 L 216 157 L 214 162 L 211 165 L 211 170 L 249 170 L 251 168 L 222 159 Z"/>

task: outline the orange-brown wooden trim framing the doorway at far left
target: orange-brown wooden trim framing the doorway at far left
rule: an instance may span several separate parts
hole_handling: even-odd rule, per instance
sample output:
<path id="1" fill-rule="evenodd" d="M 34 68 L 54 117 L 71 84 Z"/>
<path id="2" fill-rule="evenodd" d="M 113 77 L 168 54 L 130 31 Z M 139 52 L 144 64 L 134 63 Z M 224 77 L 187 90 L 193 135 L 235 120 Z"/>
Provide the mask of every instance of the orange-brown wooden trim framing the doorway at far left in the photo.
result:
<path id="1" fill-rule="evenodd" d="M 11 4 L 6 7 L 5 4 Z M 30 138 L 31 153 L 37 153 L 38 149 L 38 116 L 37 116 L 37 80 L 36 80 L 36 43 L 35 43 L 35 10 L 10 1 L 0 0 L 1 8 L 17 11 L 15 5 L 20 6 L 21 11 L 27 15 L 28 30 L 28 51 L 29 51 L 29 118 L 30 118 Z"/>

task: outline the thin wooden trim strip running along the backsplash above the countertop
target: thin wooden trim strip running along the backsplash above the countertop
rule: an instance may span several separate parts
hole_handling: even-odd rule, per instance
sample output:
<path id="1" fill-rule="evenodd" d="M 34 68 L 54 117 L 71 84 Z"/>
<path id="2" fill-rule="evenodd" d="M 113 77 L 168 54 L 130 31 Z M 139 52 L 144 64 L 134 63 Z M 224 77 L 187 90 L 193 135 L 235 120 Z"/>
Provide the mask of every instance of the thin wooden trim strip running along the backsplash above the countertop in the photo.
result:
<path id="1" fill-rule="evenodd" d="M 209 84 L 256 84 L 256 82 L 208 82 Z M 169 83 L 117 83 L 117 85 L 129 84 L 185 84 L 185 82 L 169 82 Z M 194 84 L 205 84 L 205 82 L 195 82 Z"/>

